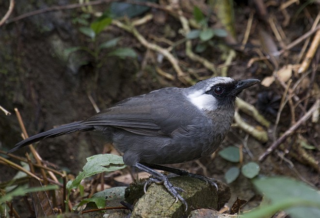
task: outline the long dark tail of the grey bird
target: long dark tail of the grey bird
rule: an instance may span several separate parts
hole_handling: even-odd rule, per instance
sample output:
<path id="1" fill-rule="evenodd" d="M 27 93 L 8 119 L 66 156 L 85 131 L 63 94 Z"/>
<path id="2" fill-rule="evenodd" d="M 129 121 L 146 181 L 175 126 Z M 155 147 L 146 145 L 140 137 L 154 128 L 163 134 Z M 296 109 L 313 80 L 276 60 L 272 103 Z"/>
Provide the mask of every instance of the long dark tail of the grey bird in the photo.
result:
<path id="1" fill-rule="evenodd" d="M 92 125 L 81 125 L 81 122 L 82 121 L 78 121 L 71 124 L 61 125 L 57 128 L 50 129 L 46 132 L 36 134 L 32 137 L 29 137 L 28 139 L 22 140 L 19 143 L 17 143 L 13 149 L 8 151 L 8 153 L 12 153 L 20 148 L 23 148 L 24 146 L 32 144 L 33 142 L 37 142 L 46 138 L 54 138 L 72 132 L 94 130 L 94 127 Z"/>

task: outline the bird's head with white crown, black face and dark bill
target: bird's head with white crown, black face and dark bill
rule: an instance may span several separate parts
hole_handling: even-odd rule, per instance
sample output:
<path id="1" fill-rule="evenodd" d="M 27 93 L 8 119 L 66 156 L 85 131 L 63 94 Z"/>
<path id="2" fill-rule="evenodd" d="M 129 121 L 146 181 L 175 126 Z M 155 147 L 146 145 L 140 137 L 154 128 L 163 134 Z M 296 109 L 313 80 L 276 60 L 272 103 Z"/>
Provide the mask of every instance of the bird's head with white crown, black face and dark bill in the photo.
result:
<path id="1" fill-rule="evenodd" d="M 238 94 L 258 82 L 258 79 L 209 78 L 189 87 L 187 97 L 198 109 L 213 111 L 234 108 Z"/>

